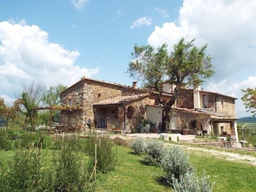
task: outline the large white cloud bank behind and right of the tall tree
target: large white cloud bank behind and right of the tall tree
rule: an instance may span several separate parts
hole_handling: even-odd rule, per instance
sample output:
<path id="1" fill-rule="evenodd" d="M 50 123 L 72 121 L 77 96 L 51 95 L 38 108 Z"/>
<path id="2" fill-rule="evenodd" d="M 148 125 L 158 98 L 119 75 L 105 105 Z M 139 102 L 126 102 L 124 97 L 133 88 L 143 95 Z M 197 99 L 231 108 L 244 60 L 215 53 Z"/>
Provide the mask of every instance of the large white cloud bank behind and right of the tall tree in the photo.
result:
<path id="1" fill-rule="evenodd" d="M 197 46 L 208 44 L 216 74 L 207 90 L 240 99 L 241 88 L 256 86 L 251 81 L 256 76 L 255 9 L 256 1 L 250 0 L 184 0 L 177 21 L 156 26 L 148 44 L 167 43 L 172 51 L 182 36 L 196 38 Z M 239 102 L 237 116 L 242 116 L 246 113 Z"/>

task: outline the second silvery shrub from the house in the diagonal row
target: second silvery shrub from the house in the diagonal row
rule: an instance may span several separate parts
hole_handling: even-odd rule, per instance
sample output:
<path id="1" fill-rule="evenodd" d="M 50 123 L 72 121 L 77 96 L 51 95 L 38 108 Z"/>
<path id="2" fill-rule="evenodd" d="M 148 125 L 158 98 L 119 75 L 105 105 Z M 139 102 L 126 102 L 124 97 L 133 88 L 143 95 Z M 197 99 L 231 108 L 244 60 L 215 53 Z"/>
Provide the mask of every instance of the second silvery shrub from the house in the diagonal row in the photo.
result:
<path id="1" fill-rule="evenodd" d="M 159 166 L 161 164 L 161 158 L 164 152 L 164 144 L 158 140 L 148 140 L 145 147 L 144 160 L 148 164 Z"/>

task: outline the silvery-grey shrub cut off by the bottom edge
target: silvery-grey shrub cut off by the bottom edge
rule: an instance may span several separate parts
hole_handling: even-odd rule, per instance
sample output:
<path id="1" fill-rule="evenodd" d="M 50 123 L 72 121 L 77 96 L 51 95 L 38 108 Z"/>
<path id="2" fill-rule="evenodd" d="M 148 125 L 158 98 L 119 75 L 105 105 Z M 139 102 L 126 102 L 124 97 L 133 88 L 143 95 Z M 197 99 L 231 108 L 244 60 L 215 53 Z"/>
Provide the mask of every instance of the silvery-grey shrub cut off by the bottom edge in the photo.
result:
<path id="1" fill-rule="evenodd" d="M 195 173 L 186 172 L 180 176 L 180 180 L 172 177 L 172 185 L 174 192 L 193 191 L 193 192 L 211 192 L 214 182 L 210 184 L 209 175 L 205 175 L 205 171 L 202 178 L 199 179 Z"/>

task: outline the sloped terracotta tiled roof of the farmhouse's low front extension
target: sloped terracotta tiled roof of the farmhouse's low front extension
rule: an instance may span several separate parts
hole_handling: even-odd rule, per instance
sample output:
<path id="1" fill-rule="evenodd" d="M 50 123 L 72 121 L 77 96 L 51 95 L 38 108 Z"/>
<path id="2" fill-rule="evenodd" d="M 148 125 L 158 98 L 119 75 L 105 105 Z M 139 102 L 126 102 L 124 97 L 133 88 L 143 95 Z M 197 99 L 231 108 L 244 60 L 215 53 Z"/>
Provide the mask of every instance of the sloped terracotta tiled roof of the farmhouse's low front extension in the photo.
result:
<path id="1" fill-rule="evenodd" d="M 99 102 L 94 103 L 95 106 L 105 106 L 113 104 L 124 104 L 126 102 L 131 102 L 132 100 L 143 99 L 148 97 L 149 93 L 141 93 L 134 95 L 120 95 L 110 99 L 100 100 Z"/>

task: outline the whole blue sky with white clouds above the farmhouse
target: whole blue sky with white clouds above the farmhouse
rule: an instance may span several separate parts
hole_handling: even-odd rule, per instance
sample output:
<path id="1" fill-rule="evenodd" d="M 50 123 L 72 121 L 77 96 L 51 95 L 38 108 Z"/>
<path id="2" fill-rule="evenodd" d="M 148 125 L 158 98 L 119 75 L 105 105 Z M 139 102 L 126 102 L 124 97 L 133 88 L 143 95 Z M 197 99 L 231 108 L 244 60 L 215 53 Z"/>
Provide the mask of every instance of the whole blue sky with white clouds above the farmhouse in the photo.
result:
<path id="1" fill-rule="evenodd" d="M 147 3 L 146 3 L 147 2 Z M 8 0 L 0 3 L 0 97 L 12 103 L 31 83 L 70 86 L 91 77 L 132 85 L 134 45 L 184 37 L 207 44 L 214 76 L 205 91 L 236 97 L 256 87 L 256 1 L 253 0 Z"/>

